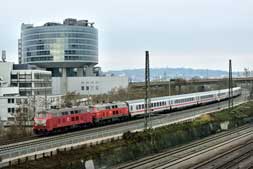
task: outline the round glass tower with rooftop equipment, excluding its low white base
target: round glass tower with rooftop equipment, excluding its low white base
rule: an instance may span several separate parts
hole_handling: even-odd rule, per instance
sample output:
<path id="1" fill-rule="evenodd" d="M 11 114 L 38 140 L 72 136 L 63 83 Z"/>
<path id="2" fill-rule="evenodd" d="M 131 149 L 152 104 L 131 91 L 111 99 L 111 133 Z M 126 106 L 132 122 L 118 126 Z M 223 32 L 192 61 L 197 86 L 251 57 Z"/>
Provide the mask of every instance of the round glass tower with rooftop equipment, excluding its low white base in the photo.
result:
<path id="1" fill-rule="evenodd" d="M 98 31 L 88 20 L 65 19 L 43 26 L 22 24 L 21 63 L 34 64 L 53 77 L 92 76 L 98 63 Z"/>

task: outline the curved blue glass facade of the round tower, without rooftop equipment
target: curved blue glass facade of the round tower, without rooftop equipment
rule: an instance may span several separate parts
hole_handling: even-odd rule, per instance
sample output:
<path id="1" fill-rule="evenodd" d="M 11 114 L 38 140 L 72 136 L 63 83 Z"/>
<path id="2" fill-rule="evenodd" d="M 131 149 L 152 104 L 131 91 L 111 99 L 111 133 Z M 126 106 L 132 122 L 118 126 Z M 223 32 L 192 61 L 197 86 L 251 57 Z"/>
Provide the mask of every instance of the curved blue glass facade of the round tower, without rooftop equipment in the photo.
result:
<path id="1" fill-rule="evenodd" d="M 98 32 L 91 26 L 53 25 L 22 28 L 23 63 L 98 63 Z"/>

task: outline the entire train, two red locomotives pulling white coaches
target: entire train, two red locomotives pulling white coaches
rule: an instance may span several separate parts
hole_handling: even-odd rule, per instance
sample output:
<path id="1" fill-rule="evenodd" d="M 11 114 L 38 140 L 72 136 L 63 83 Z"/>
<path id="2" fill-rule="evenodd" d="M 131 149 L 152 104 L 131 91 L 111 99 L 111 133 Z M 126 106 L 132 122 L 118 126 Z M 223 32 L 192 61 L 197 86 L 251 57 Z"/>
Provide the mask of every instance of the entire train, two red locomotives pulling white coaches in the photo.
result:
<path id="1" fill-rule="evenodd" d="M 233 88 L 233 97 L 241 95 L 241 88 Z M 150 99 L 151 113 L 164 112 L 202 104 L 219 102 L 229 98 L 229 90 L 215 90 Z M 145 113 L 145 100 L 130 100 L 86 107 L 52 109 L 38 112 L 34 117 L 33 131 L 47 135 L 68 131 L 73 128 L 100 125 L 113 121 L 127 120 Z"/>

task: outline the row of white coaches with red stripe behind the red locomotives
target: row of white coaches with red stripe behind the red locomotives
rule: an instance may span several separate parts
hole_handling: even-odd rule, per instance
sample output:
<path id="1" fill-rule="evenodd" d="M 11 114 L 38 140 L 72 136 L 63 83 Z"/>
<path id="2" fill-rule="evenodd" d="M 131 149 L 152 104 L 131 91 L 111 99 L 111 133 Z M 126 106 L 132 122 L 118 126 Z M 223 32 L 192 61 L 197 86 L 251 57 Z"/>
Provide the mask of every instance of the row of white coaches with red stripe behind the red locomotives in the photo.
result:
<path id="1" fill-rule="evenodd" d="M 233 97 L 241 94 L 241 88 L 233 88 Z M 150 111 L 162 112 L 167 110 L 185 108 L 195 105 L 218 102 L 229 98 L 229 90 L 215 90 L 209 92 L 198 92 L 182 94 L 176 96 L 155 97 L 150 99 Z M 131 116 L 142 115 L 145 113 L 145 100 L 127 101 Z"/>

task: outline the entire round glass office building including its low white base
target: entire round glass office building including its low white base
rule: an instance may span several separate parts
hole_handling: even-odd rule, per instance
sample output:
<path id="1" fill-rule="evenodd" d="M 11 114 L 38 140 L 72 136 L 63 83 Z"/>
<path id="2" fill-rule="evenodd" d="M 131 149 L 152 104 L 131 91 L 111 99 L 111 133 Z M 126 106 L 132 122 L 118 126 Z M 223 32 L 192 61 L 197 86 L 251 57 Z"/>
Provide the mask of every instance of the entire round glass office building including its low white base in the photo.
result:
<path id="1" fill-rule="evenodd" d="M 52 94 L 96 95 L 128 86 L 127 77 L 101 77 L 101 68 L 95 66 L 98 30 L 88 20 L 68 18 L 63 23 L 42 26 L 22 24 L 18 56 L 19 63 L 51 72 Z"/>

